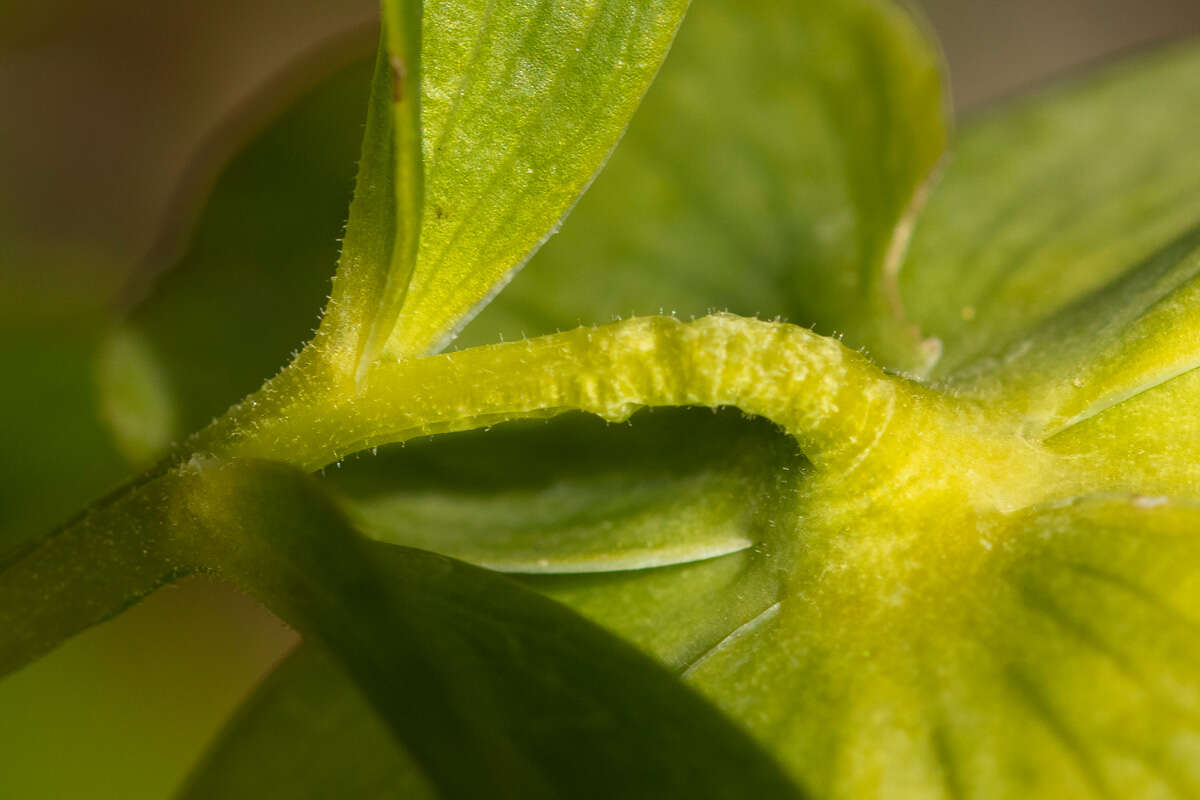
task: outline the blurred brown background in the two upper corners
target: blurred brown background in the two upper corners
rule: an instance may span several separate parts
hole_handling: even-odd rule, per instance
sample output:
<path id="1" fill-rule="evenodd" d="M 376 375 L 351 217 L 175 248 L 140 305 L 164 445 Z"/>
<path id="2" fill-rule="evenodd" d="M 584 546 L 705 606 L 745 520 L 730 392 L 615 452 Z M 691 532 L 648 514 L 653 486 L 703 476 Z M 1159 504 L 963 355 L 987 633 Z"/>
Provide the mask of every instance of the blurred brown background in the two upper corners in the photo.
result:
<path id="1" fill-rule="evenodd" d="M 922 0 L 962 113 L 1200 32 L 1194 0 Z M 0 2 L 0 242 L 58 275 L 132 269 L 187 166 L 283 65 L 362 37 L 372 0 Z M 107 282 L 102 282 L 107 283 Z M 2 284 L 0 284 L 2 287 Z"/>

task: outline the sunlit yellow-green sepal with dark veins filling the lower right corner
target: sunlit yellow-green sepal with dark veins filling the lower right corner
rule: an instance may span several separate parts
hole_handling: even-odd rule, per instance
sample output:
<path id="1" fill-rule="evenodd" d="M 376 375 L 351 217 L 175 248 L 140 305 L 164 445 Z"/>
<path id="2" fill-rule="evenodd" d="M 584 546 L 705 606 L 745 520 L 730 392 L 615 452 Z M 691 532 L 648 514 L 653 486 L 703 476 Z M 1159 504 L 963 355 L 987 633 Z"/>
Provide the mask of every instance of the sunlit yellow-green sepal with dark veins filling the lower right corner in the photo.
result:
<path id="1" fill-rule="evenodd" d="M 948 572 L 821 579 L 824 542 L 803 594 L 691 679 L 821 796 L 1189 795 L 1198 523 L 1082 500 L 959 531 Z"/>

